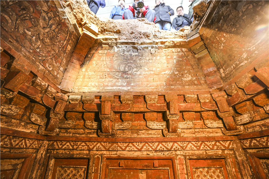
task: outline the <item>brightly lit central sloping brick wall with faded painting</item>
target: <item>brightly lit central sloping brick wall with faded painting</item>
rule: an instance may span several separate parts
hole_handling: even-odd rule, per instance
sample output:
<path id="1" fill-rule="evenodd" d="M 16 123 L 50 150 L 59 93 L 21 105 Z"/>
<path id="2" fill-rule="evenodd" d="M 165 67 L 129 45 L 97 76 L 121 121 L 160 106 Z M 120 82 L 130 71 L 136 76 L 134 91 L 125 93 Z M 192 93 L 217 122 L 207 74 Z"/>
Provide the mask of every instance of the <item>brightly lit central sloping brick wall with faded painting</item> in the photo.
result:
<path id="1" fill-rule="evenodd" d="M 137 43 L 117 41 L 116 34 L 98 40 L 102 46 L 98 44 L 88 52 L 74 91 L 208 89 L 203 72 L 184 40 Z M 111 41 L 113 46 L 109 45 Z"/>

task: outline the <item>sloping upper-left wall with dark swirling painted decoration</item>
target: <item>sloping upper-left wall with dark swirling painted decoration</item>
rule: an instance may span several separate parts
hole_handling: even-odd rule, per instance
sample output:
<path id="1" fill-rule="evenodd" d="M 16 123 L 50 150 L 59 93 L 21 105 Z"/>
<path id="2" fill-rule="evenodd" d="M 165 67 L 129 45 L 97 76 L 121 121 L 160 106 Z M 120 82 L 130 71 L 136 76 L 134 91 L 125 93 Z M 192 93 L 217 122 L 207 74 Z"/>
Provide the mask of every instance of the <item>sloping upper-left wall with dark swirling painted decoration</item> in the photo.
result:
<path id="1" fill-rule="evenodd" d="M 29 73 L 30 62 L 56 85 L 78 41 L 69 28 L 49 1 L 1 1 L 1 39 L 22 55 L 16 56 L 14 68 Z"/>

